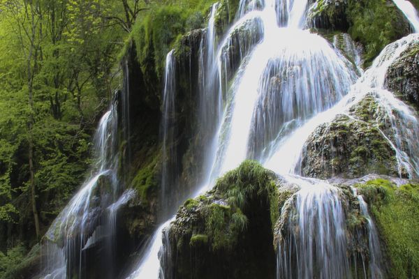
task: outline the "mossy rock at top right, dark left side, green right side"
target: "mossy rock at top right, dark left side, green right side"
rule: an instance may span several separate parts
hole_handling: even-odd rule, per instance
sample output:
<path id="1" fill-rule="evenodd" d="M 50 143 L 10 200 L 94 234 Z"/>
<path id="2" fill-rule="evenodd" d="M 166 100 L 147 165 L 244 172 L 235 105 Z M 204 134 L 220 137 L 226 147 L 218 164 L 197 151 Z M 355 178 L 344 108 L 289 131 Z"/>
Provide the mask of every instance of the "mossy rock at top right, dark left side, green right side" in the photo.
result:
<path id="1" fill-rule="evenodd" d="M 309 26 L 349 33 L 365 47 L 365 66 L 386 45 L 411 31 L 391 0 L 317 0 L 309 11 Z"/>

